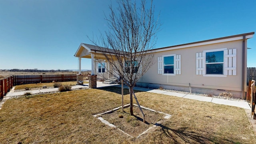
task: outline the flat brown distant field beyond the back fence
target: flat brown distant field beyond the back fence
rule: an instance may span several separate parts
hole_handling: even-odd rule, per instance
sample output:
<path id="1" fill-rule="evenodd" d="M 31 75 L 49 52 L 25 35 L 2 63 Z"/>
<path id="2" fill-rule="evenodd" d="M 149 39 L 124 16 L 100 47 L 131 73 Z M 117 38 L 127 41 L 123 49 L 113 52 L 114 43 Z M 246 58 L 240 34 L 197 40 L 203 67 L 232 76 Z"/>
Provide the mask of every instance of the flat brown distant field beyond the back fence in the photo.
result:
<path id="1" fill-rule="evenodd" d="M 13 75 L 41 75 L 41 74 L 78 74 L 78 72 L 9 72 L 0 70 L 0 80 Z M 82 72 L 84 75 L 91 74 L 91 71 Z"/>

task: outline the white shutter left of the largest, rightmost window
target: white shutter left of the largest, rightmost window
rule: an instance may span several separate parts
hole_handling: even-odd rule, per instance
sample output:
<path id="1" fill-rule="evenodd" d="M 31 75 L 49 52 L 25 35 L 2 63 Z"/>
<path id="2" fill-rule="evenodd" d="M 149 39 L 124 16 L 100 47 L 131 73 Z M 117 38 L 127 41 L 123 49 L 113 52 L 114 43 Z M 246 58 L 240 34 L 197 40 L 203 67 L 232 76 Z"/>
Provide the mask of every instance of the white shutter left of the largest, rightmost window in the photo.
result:
<path id="1" fill-rule="evenodd" d="M 205 52 L 196 53 L 196 75 L 205 74 Z"/>

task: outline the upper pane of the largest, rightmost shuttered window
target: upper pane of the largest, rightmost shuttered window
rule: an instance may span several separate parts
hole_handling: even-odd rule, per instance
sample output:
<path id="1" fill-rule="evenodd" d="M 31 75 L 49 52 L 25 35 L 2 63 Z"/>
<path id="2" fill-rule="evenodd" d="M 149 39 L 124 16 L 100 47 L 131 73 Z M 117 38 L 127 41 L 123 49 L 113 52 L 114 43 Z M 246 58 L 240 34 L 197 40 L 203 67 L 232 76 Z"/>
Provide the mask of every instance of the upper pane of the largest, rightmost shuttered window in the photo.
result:
<path id="1" fill-rule="evenodd" d="M 206 63 L 209 62 L 223 62 L 224 61 L 224 51 L 218 52 L 206 52 Z"/>

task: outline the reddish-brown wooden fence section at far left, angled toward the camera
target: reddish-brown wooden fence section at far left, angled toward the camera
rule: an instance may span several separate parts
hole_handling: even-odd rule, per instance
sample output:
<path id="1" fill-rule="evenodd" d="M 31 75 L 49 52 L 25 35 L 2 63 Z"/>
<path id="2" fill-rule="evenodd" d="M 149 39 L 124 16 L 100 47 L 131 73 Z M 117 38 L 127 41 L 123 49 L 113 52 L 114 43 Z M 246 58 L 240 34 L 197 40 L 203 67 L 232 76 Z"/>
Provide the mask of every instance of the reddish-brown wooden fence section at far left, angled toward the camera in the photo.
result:
<path id="1" fill-rule="evenodd" d="M 0 98 L 4 98 L 13 86 L 13 76 L 0 80 Z"/>

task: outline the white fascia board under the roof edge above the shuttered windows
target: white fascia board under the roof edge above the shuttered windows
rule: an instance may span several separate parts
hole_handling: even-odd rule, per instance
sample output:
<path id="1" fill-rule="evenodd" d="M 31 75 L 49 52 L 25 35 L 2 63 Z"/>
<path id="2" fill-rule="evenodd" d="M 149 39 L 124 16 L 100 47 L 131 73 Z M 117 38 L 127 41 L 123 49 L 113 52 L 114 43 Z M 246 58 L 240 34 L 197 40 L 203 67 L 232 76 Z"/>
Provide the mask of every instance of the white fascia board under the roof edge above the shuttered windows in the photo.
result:
<path id="1" fill-rule="evenodd" d="M 246 39 L 248 38 L 252 38 L 253 35 L 248 35 L 246 36 Z M 166 51 L 166 50 L 176 50 L 176 49 L 180 49 L 180 48 L 189 48 L 189 47 L 193 47 L 193 46 L 203 46 L 203 45 L 207 45 L 207 44 L 217 44 L 220 42 L 230 42 L 230 41 L 235 41 L 235 40 L 242 40 L 243 36 L 239 36 L 239 37 L 235 37 L 235 38 L 226 38 L 226 39 L 222 39 L 222 40 L 213 40 L 213 41 L 209 41 L 209 42 L 201 42 L 201 43 L 197 43 L 197 44 L 188 44 L 188 45 L 184 45 L 184 46 L 175 46 L 175 47 L 171 47 L 171 48 L 163 48 L 160 50 L 155 50 L 155 52 L 162 52 L 162 51 Z"/>

